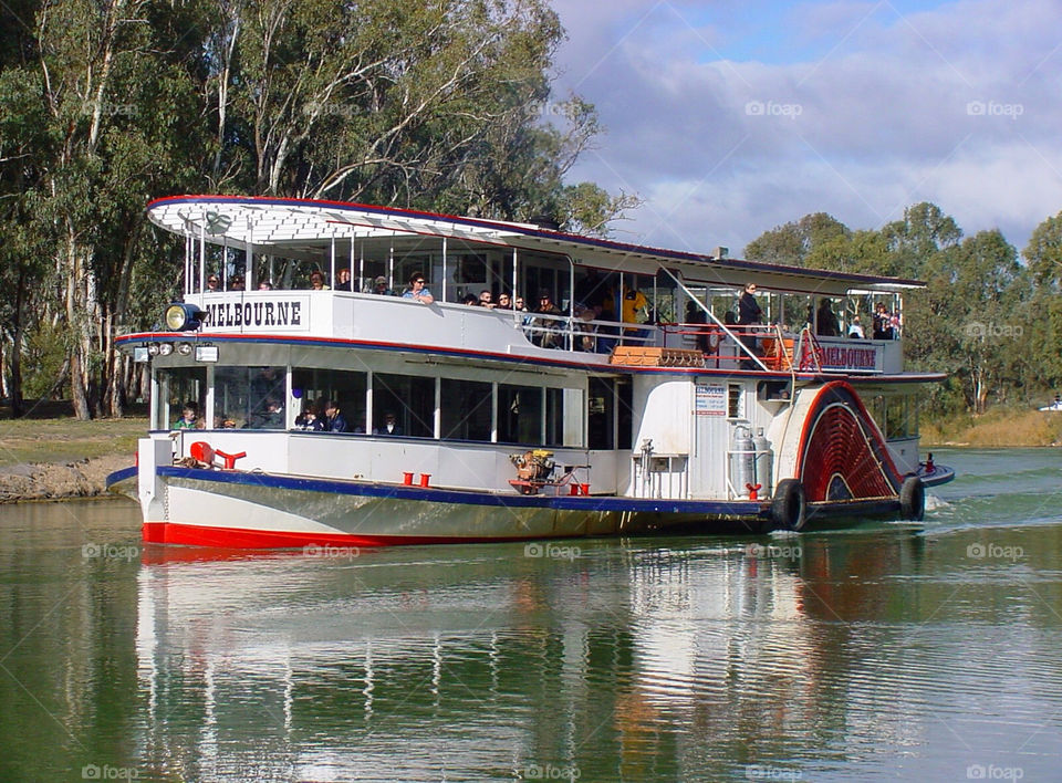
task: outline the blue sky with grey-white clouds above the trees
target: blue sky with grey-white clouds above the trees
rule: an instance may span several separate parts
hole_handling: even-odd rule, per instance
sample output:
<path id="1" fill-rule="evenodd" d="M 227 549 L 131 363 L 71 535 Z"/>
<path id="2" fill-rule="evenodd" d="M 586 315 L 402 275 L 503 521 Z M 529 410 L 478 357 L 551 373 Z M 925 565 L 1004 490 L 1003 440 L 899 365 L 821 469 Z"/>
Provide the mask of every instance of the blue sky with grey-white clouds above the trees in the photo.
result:
<path id="1" fill-rule="evenodd" d="M 569 181 L 636 194 L 622 241 L 740 257 L 811 212 L 933 201 L 1021 251 L 1062 211 L 1062 0 L 552 0 L 554 100 L 606 133 Z"/>

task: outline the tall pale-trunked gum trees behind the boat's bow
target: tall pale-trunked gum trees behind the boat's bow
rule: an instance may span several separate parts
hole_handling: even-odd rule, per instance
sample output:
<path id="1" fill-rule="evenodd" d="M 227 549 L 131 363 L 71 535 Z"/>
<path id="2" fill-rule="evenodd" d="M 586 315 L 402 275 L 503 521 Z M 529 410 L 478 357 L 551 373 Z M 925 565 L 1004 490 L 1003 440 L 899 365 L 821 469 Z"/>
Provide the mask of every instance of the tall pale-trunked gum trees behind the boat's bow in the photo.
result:
<path id="1" fill-rule="evenodd" d="M 121 413 L 134 368 L 115 335 L 178 292 L 173 243 L 145 222 L 157 196 L 549 213 L 597 233 L 636 205 L 565 181 L 601 127 L 577 96 L 550 103 L 563 30 L 544 0 L 17 0 L 0 15 L 15 413 L 23 358 L 34 393 L 61 374 L 79 417 Z M 38 361 L 56 345 L 61 367 Z"/>

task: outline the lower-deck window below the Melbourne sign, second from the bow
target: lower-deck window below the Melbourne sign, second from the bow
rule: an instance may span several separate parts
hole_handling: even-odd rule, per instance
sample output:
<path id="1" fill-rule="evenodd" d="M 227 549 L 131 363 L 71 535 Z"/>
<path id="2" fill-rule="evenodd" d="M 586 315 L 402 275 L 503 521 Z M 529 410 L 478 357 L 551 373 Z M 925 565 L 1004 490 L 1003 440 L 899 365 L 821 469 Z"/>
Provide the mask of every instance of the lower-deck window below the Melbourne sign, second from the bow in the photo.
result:
<path id="1" fill-rule="evenodd" d="M 217 367 L 215 427 L 284 429 L 285 377 L 284 367 Z"/>

